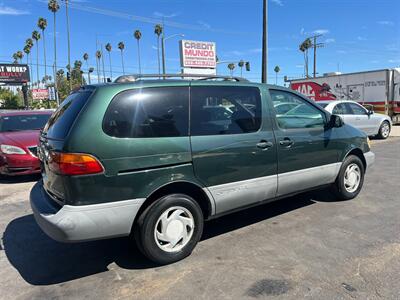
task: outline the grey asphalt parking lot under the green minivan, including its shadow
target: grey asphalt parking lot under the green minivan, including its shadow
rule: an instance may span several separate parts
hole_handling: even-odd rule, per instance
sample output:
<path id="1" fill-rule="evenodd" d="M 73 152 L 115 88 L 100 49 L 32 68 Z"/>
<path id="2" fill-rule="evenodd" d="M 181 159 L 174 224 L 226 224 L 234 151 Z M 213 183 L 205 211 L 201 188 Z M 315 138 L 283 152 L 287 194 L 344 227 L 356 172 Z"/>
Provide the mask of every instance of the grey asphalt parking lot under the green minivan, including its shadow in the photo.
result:
<path id="1" fill-rule="evenodd" d="M 400 138 L 374 141 L 361 194 L 312 192 L 206 223 L 190 257 L 157 267 L 128 239 L 60 244 L 0 181 L 0 299 L 399 299 Z"/>

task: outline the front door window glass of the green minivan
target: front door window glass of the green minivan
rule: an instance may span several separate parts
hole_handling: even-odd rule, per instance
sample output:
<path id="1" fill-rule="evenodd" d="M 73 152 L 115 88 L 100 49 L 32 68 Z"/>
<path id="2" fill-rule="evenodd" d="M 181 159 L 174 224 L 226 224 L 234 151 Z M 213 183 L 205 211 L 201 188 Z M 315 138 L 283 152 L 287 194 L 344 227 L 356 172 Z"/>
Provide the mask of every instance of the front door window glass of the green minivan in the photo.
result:
<path id="1" fill-rule="evenodd" d="M 282 103 L 291 103 L 292 106 L 284 112 L 276 113 L 278 126 L 282 129 L 320 128 L 325 126 L 324 113 L 301 97 L 281 90 L 269 91 L 274 107 Z"/>

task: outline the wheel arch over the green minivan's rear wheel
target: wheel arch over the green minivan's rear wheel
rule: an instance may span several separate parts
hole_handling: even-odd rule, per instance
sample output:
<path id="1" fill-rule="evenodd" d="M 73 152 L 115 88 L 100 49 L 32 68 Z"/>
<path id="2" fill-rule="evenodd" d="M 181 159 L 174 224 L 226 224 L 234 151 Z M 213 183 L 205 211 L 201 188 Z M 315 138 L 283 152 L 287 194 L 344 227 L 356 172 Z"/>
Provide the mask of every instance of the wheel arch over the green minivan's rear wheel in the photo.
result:
<path id="1" fill-rule="evenodd" d="M 189 181 L 175 181 L 167 183 L 151 192 L 136 214 L 133 224 L 136 224 L 139 217 L 150 205 L 169 194 L 185 194 L 192 197 L 199 204 L 204 219 L 208 219 L 215 210 L 211 194 L 208 194 L 201 186 Z"/>

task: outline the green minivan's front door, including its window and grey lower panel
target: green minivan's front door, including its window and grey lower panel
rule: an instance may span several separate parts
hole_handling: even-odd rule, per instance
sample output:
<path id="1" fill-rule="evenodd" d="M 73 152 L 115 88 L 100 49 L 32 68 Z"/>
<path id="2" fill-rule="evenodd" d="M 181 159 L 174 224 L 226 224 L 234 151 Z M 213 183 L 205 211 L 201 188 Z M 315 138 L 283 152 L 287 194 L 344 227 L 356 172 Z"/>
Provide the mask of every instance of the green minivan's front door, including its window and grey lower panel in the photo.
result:
<path id="1" fill-rule="evenodd" d="M 334 134 L 317 104 L 286 90 L 270 89 L 273 102 L 292 102 L 295 108 L 276 114 L 278 196 L 335 180 L 340 164 Z"/>

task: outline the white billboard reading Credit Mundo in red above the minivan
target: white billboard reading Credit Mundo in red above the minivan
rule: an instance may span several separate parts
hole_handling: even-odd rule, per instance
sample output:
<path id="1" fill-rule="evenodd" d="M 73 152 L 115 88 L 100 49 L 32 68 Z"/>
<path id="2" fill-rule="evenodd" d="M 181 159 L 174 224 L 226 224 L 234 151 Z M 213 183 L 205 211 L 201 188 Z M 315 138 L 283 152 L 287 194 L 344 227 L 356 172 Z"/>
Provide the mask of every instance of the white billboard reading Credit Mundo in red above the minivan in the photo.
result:
<path id="1" fill-rule="evenodd" d="M 182 68 L 216 68 L 217 56 L 214 42 L 181 40 L 179 47 Z"/>

